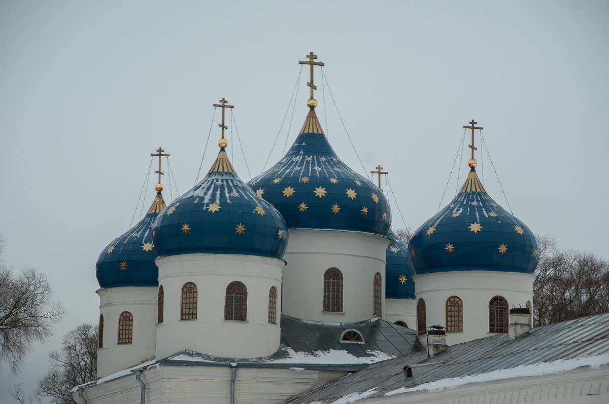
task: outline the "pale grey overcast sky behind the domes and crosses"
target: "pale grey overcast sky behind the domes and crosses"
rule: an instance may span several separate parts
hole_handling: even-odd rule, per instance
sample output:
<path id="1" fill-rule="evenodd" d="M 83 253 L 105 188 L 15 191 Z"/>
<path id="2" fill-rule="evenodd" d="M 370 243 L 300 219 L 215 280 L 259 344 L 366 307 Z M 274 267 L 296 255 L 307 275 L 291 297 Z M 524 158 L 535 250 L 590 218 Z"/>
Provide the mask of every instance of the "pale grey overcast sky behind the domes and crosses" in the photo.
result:
<path id="1" fill-rule="evenodd" d="M 66 316 L 21 374 L 1 367 L 0 403 L 12 402 L 10 385 L 35 389 L 68 330 L 97 322 L 97 255 L 128 229 L 150 153 L 171 154 L 168 203 L 176 186 L 194 184 L 212 104 L 226 97 L 257 175 L 310 51 L 326 63 L 365 171 L 389 171 L 407 225 L 435 214 L 456 156 L 442 206 L 465 179 L 469 148 L 459 144 L 474 118 L 514 214 L 561 248 L 607 257 L 608 43 L 606 1 L 2 2 L 4 262 L 46 273 Z M 291 106 L 267 168 L 303 124 L 308 80 L 305 68 L 290 131 Z M 363 172 L 319 69 L 315 84 L 331 144 Z M 217 155 L 219 116 L 201 177 Z M 234 125 L 230 136 L 247 180 Z M 477 159 L 488 193 L 507 208 L 488 155 Z"/>

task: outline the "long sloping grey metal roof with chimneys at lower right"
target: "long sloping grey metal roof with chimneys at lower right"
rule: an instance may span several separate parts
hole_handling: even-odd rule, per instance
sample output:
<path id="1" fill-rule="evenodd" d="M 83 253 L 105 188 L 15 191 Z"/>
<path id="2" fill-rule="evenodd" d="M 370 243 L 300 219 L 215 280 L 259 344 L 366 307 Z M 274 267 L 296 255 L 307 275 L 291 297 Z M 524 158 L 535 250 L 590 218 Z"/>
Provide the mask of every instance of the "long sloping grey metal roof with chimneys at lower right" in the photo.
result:
<path id="1" fill-rule="evenodd" d="M 605 313 L 538 327 L 513 341 L 507 334 L 493 335 L 449 346 L 446 352 L 432 358 L 426 352 L 418 352 L 371 364 L 285 403 L 328 403 L 375 388 L 367 397 L 382 397 L 396 389 L 432 381 L 608 353 L 609 313 Z M 405 377 L 404 366 L 412 367 L 413 378 Z"/>

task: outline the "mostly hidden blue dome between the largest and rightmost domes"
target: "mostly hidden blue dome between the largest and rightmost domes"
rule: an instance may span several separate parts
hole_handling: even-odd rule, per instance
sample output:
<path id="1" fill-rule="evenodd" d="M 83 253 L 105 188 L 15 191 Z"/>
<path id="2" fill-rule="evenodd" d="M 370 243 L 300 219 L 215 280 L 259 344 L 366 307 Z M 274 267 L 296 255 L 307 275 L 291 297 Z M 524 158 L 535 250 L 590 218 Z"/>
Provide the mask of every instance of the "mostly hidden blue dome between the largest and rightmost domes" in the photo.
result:
<path id="1" fill-rule="evenodd" d="M 408 247 L 393 231 L 387 237 L 393 240 L 393 245 L 387 247 L 385 252 L 385 298 L 414 299 L 414 271 L 408 259 Z"/>

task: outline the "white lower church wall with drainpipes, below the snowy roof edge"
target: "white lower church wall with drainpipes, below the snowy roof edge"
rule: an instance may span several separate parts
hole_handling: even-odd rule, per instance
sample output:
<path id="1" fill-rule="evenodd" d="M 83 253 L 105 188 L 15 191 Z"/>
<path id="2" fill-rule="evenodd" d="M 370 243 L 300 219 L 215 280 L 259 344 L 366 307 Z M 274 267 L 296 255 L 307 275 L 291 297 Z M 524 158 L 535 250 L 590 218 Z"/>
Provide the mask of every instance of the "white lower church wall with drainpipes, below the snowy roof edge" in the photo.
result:
<path id="1" fill-rule="evenodd" d="M 345 372 L 301 371 L 239 367 L 235 381 L 236 404 L 278 404 L 295 394 L 323 385 Z M 166 366 L 145 369 L 147 404 L 230 403 L 230 377 L 225 366 Z M 105 381 L 83 391 L 91 404 L 139 403 L 140 386 L 134 374 Z M 75 392 L 77 403 L 82 400 Z"/>

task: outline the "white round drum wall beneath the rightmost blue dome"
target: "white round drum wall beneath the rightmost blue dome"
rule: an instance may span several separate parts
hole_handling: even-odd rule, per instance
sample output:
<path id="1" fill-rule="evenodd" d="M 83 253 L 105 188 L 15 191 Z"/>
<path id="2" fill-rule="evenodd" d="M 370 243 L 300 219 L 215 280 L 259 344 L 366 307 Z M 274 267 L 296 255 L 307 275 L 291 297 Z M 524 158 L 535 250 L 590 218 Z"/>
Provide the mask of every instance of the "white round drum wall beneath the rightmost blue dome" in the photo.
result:
<path id="1" fill-rule="evenodd" d="M 488 302 L 503 296 L 509 308 L 526 307 L 533 302 L 533 280 L 526 273 L 493 271 L 454 271 L 415 274 L 415 297 L 425 299 L 427 325 L 446 326 L 446 299 L 458 296 L 463 301 L 463 332 L 447 332 L 446 343 L 459 344 L 488 335 Z M 416 307 L 416 305 L 415 305 Z M 410 324 L 409 324 L 410 326 Z M 416 324 L 414 324 L 416 329 Z"/>

